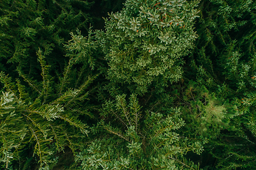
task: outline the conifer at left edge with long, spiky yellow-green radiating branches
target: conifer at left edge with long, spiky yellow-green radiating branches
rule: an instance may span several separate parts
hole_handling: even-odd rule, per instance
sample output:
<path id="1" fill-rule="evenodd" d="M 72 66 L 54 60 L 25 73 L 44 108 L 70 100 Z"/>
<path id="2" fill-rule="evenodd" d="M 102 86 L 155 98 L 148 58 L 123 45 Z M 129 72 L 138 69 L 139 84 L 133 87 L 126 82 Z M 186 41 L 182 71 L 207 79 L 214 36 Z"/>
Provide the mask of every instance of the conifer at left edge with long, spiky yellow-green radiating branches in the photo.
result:
<path id="1" fill-rule="evenodd" d="M 69 45 L 67 50 L 72 52 L 71 47 L 75 42 L 70 42 Z M 30 86 L 33 95 L 28 96 L 28 87 L 21 84 L 19 79 L 16 79 L 17 84 L 14 84 L 11 77 L 6 76 L 4 72 L 0 74 L 1 82 L 8 91 L 3 92 L 1 96 L 0 121 L 1 162 L 5 163 L 6 169 L 14 161 L 19 162 L 14 164 L 15 168 L 25 167 L 26 162 L 21 158 L 21 154 L 31 145 L 40 169 L 50 169 L 57 163 L 57 152 L 63 152 L 64 148 L 69 146 L 75 153 L 89 132 L 87 125 L 79 120 L 79 116 L 93 117 L 87 111 L 85 101 L 90 94 L 86 89 L 95 76 L 90 77 L 85 69 L 77 72 L 73 68 L 81 59 L 73 62 L 73 58 L 70 58 L 57 85 L 53 82 L 54 77 L 49 75 L 50 66 L 42 53 L 38 50 L 42 77 L 40 82 L 29 79 L 21 70 L 18 72 Z M 77 84 L 70 86 L 70 75 L 77 77 Z M 74 89 L 75 86 L 78 88 Z M 32 155 L 28 154 L 27 157 Z"/>

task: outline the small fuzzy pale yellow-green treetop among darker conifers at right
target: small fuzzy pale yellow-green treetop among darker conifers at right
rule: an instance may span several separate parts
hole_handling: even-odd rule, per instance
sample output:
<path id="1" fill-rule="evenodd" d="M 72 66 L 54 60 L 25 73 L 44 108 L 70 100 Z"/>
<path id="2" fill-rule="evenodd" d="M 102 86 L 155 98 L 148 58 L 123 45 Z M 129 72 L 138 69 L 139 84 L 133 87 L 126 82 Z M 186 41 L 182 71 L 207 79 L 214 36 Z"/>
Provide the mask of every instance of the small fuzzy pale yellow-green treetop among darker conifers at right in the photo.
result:
<path id="1" fill-rule="evenodd" d="M 189 125 L 184 132 L 201 140 L 218 137 L 220 130 L 230 126 L 230 118 L 239 115 L 236 106 L 217 98 L 196 81 L 173 85 L 172 89 L 175 105 L 182 108 L 183 118 Z"/>

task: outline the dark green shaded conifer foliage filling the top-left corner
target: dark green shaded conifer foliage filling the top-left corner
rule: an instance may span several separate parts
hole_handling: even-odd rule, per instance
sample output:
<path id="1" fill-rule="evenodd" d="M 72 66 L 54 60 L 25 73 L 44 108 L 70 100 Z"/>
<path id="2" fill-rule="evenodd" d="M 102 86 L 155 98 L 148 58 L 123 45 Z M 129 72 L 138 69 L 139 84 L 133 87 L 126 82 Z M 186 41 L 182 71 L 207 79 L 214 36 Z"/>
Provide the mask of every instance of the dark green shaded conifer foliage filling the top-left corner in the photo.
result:
<path id="1" fill-rule="evenodd" d="M 90 8 L 87 1 L 0 1 L 1 70 L 17 77 L 16 67 L 28 77 L 38 79 L 40 65 L 36 62 L 38 47 L 52 69 L 63 71 L 65 48 L 77 28 L 87 30 Z M 56 70 L 56 71 L 57 71 Z M 59 73 L 60 73 L 59 72 Z"/>

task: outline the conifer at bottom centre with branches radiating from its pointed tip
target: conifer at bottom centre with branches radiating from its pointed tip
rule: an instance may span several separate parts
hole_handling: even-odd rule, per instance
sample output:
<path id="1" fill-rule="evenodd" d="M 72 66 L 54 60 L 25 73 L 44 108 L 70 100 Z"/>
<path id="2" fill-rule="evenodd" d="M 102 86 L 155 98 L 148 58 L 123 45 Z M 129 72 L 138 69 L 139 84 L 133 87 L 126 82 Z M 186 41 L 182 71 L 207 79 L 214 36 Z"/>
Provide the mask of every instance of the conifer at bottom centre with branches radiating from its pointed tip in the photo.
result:
<path id="1" fill-rule="evenodd" d="M 129 103 L 125 98 L 117 96 L 102 107 L 105 121 L 93 128 L 100 138 L 77 156 L 82 169 L 198 169 L 183 155 L 200 154 L 203 147 L 178 135 L 185 125 L 180 109 L 169 108 L 167 116 L 144 113 L 136 95 L 129 97 Z"/>

